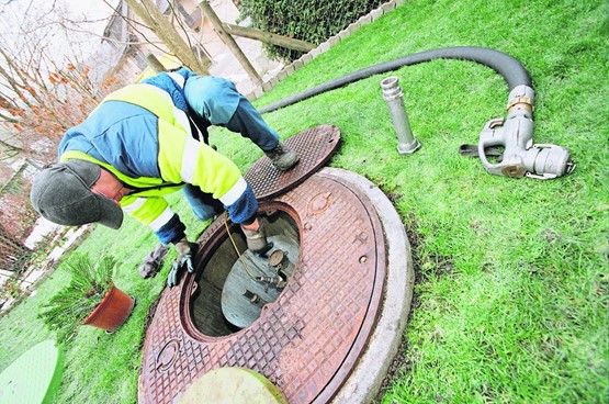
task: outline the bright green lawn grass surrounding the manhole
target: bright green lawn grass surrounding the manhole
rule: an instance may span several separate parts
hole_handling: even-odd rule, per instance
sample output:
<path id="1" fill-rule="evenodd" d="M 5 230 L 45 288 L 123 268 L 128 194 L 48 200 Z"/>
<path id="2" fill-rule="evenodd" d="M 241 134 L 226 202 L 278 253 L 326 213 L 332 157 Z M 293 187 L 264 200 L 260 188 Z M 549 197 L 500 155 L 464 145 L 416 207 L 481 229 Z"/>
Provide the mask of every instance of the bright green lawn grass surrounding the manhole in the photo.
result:
<path id="1" fill-rule="evenodd" d="M 601 1 L 411 0 L 358 31 L 257 101 L 270 104 L 315 85 L 431 48 L 503 50 L 530 71 L 535 143 L 567 148 L 575 172 L 553 181 L 487 175 L 461 157 L 484 123 L 505 114 L 507 86 L 490 69 L 436 60 L 394 72 L 422 148 L 395 152 L 396 137 L 372 77 L 264 115 L 282 136 L 318 124 L 341 128 L 330 165 L 391 193 L 414 243 L 415 302 L 401 366 L 382 403 L 608 402 L 609 8 Z M 261 153 L 214 131 L 219 149 L 246 170 Z M 191 237 L 203 228 L 179 198 Z M 68 350 L 58 403 L 136 401 L 146 313 L 162 272 L 136 271 L 156 240 L 127 221 L 97 228 L 79 247 L 120 260 L 116 283 L 137 298 L 114 335 L 79 332 Z M 67 281 L 59 267 L 36 295 L 0 322 L 0 369 L 50 337 L 37 307 Z"/>

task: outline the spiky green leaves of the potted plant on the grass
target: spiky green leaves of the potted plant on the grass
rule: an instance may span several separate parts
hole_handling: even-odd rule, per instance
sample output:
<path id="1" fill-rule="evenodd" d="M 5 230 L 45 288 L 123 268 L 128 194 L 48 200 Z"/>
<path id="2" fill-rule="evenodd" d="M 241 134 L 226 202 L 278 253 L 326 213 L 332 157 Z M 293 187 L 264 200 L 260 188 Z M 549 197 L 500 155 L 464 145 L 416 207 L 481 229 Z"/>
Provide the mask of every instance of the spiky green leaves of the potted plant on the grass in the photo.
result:
<path id="1" fill-rule="evenodd" d="M 113 285 L 116 259 L 104 256 L 92 261 L 87 255 L 75 254 L 66 266 L 71 272 L 70 283 L 43 305 L 38 314 L 48 329 L 56 332 L 58 344 L 74 338 L 77 327 Z"/>

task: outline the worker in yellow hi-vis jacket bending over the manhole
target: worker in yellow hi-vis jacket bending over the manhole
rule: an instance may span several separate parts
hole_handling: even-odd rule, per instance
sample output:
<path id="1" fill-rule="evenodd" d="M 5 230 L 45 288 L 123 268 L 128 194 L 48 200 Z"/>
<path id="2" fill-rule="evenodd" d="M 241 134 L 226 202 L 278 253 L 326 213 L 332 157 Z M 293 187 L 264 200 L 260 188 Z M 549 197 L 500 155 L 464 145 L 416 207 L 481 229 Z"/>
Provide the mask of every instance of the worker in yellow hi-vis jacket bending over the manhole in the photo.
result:
<path id="1" fill-rule="evenodd" d="M 253 105 L 228 80 L 181 68 L 109 94 L 58 147 L 59 162 L 32 184 L 34 209 L 61 225 L 101 223 L 119 228 L 123 211 L 149 226 L 178 258 L 168 277 L 192 271 L 196 245 L 163 194 L 181 189 L 201 221 L 228 211 L 250 250 L 269 248 L 256 197 L 237 166 L 210 147 L 207 127 L 225 126 L 251 139 L 280 170 L 298 162 Z"/>

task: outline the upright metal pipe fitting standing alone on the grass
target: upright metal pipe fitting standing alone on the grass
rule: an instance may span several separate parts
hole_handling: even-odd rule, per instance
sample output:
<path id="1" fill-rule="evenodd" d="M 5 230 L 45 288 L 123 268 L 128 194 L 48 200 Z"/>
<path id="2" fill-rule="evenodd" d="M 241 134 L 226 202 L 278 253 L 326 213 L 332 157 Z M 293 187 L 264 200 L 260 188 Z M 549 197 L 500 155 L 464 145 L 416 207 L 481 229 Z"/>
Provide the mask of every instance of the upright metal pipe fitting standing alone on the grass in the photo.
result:
<path id="1" fill-rule="evenodd" d="M 383 89 L 383 98 L 387 102 L 393 126 L 397 133 L 397 152 L 401 155 L 411 155 L 420 148 L 420 143 L 413 136 L 413 131 L 410 130 L 399 79 L 395 76 L 383 79 L 381 81 L 381 89 Z"/>

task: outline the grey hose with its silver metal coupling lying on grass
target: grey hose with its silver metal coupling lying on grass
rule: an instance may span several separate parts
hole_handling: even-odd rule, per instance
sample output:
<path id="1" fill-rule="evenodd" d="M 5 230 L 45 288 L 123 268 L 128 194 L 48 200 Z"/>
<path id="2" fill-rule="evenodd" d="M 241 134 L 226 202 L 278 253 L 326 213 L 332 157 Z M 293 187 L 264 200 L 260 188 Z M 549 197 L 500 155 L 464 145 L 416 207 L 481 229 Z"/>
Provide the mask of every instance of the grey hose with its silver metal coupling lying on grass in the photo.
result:
<path id="1" fill-rule="evenodd" d="M 433 59 L 476 61 L 493 68 L 504 77 L 509 86 L 507 119 L 500 117 L 488 121 L 481 133 L 477 146 L 463 145 L 460 149 L 461 154 L 480 157 L 484 169 L 488 173 L 512 178 L 528 177 L 546 180 L 568 175 L 575 169 L 575 164 L 571 161 L 571 155 L 564 147 L 533 144 L 534 91 L 531 87 L 529 72 L 514 57 L 484 47 L 444 47 L 384 61 L 326 81 L 261 108 L 259 111 L 260 113 L 275 111 L 373 75 Z M 495 162 L 488 157 L 494 155 L 495 152 L 492 153 L 492 150 L 497 149 L 497 147 L 501 148 L 503 152 L 500 157 L 497 158 L 497 162 Z"/>

